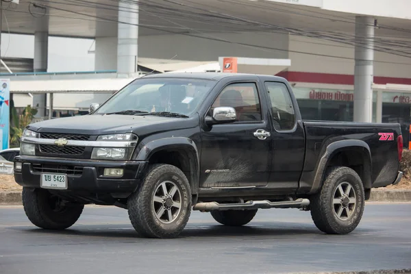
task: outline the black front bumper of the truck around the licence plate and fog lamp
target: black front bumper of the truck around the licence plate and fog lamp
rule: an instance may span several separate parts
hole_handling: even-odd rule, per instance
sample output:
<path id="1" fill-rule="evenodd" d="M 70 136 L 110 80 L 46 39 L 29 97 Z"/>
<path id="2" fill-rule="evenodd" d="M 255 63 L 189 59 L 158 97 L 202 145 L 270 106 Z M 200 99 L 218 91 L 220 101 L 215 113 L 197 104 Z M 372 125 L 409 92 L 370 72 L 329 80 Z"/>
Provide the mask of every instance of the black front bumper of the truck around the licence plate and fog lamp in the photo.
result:
<path id="1" fill-rule="evenodd" d="M 64 173 L 67 174 L 69 191 L 105 193 L 134 192 L 147 167 L 145 161 L 72 160 L 25 155 L 17 156 L 15 162 L 22 163 L 21 171 L 14 169 L 14 179 L 20 186 L 40 188 L 42 172 Z M 104 168 L 124 169 L 124 174 L 122 177 L 104 177 Z"/>

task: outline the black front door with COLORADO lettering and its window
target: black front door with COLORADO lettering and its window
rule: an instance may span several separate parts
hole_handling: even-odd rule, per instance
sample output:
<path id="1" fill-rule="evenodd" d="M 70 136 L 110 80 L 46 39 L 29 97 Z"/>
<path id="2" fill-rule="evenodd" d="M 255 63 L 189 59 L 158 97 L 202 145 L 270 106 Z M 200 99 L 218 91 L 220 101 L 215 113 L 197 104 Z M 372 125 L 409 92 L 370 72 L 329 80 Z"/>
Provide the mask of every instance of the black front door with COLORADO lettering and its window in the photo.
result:
<path id="1" fill-rule="evenodd" d="M 208 111 L 232 107 L 237 119 L 212 125 L 201 132 L 200 187 L 266 186 L 271 168 L 271 138 L 255 136 L 271 132 L 270 121 L 262 113 L 265 105 L 257 82 L 234 82 L 223 88 Z"/>

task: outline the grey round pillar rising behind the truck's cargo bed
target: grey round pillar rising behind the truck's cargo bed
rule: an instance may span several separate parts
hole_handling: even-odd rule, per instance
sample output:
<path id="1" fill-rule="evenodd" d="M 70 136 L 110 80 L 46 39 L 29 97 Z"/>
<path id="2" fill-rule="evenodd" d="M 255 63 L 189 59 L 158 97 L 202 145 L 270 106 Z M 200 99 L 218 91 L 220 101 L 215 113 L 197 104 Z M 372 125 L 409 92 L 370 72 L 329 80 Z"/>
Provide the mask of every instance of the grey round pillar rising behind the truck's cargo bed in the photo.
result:
<path id="1" fill-rule="evenodd" d="M 373 120 L 374 18 L 356 17 L 356 66 L 354 69 L 354 122 Z"/>

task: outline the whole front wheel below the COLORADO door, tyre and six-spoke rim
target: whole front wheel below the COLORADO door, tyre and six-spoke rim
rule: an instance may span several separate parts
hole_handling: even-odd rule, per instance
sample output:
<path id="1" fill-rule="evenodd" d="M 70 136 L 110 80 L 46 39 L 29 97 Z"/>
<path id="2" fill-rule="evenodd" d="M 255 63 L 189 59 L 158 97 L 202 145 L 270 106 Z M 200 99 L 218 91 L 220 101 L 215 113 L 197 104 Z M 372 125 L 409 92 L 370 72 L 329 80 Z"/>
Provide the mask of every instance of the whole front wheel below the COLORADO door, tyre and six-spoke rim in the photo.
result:
<path id="1" fill-rule="evenodd" d="M 170 164 L 157 164 L 127 203 L 134 229 L 147 238 L 175 238 L 188 222 L 191 190 L 184 173 Z"/>

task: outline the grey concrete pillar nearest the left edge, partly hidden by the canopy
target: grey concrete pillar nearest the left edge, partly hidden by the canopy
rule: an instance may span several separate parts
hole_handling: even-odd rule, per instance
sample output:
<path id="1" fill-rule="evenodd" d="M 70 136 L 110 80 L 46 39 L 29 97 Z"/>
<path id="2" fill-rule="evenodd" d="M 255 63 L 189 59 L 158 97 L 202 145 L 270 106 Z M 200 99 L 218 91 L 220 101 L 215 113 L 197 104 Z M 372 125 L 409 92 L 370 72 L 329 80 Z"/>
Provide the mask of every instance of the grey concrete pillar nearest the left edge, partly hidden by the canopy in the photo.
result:
<path id="1" fill-rule="evenodd" d="M 34 67 L 33 71 L 47 72 L 47 60 L 48 60 L 48 48 L 49 48 L 49 33 L 48 32 L 35 32 L 34 33 Z M 36 118 L 46 116 L 46 103 L 47 94 L 33 95 L 33 107 L 37 109 Z"/>

